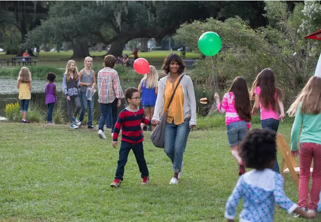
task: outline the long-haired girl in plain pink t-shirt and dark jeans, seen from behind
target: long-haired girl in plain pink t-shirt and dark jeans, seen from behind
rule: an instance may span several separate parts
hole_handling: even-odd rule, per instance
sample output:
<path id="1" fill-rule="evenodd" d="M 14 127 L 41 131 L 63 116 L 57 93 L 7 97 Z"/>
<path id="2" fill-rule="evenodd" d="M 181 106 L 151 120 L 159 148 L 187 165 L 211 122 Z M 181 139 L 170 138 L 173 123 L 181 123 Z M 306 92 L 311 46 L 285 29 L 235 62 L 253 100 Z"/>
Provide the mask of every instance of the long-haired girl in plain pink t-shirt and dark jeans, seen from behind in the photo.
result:
<path id="1" fill-rule="evenodd" d="M 262 128 L 268 128 L 277 132 L 279 128 L 279 118 L 282 121 L 285 118 L 283 94 L 281 89 L 275 86 L 274 73 L 270 68 L 263 69 L 256 76 L 250 95 L 252 99 L 255 99 L 252 115 L 256 115 L 256 112 L 260 108 Z M 277 111 L 277 104 L 280 108 L 280 116 Z M 280 172 L 277 160 L 272 170 L 277 173 Z"/>

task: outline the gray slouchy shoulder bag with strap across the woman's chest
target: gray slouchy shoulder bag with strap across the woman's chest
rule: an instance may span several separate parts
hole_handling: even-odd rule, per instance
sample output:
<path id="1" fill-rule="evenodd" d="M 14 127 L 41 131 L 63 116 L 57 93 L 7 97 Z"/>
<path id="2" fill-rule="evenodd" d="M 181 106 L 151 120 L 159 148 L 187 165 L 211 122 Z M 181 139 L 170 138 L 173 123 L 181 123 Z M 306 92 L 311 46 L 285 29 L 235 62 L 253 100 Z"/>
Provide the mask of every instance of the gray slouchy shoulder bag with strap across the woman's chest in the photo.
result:
<path id="1" fill-rule="evenodd" d="M 165 141 L 165 125 L 166 125 L 166 118 L 167 118 L 167 111 L 169 108 L 169 105 L 172 103 L 176 89 L 178 87 L 178 85 L 180 84 L 181 80 L 183 79 L 183 76 L 185 76 L 184 74 L 181 76 L 181 78 L 179 79 L 174 92 L 172 94 L 171 99 L 169 100 L 167 109 L 165 111 L 165 113 L 163 114 L 163 116 L 161 117 L 159 124 L 155 127 L 154 131 L 152 132 L 152 134 L 150 135 L 150 139 L 152 140 L 152 143 L 154 144 L 154 146 L 158 147 L 158 148 L 164 148 L 164 141 Z"/>

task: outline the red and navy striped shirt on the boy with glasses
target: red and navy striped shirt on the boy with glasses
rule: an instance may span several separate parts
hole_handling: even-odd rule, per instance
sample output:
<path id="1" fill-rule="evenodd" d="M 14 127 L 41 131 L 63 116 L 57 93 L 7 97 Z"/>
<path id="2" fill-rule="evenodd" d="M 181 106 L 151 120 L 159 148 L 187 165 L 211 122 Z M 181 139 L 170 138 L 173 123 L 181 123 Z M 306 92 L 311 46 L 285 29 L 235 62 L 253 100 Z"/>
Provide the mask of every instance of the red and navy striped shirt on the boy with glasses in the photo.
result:
<path id="1" fill-rule="evenodd" d="M 138 111 L 120 111 L 113 129 L 112 141 L 117 141 L 121 128 L 121 141 L 128 143 L 140 143 L 144 140 L 140 123 L 150 124 L 151 120 L 144 117 L 143 108 Z"/>

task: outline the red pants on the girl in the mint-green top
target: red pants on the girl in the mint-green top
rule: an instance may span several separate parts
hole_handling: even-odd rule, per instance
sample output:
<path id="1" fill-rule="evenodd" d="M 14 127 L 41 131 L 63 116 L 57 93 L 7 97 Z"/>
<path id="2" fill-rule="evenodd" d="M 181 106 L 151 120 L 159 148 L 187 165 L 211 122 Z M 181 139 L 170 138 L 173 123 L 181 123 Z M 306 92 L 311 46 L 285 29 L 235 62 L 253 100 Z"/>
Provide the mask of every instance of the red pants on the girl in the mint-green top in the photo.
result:
<path id="1" fill-rule="evenodd" d="M 319 195 L 321 190 L 321 144 L 301 143 L 300 157 L 300 182 L 299 182 L 299 207 L 311 210 L 318 209 Z M 307 202 L 309 194 L 310 167 L 313 159 L 312 186 L 310 201 Z"/>

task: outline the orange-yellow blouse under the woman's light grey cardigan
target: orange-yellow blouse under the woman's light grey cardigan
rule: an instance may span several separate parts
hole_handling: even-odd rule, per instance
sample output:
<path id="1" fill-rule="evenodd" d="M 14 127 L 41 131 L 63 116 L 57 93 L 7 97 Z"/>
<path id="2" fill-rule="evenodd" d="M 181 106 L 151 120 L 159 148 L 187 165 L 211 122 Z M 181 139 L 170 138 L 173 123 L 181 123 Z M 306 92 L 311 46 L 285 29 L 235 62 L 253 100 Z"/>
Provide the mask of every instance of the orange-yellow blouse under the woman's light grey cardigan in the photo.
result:
<path id="1" fill-rule="evenodd" d="M 164 110 L 163 114 L 166 111 L 168 103 L 172 97 L 174 89 L 179 81 L 179 78 L 176 79 L 175 84 L 173 84 L 167 79 L 165 92 L 164 92 Z M 183 112 L 183 103 L 184 103 L 184 95 L 181 84 L 177 87 L 172 103 L 170 104 L 167 111 L 167 119 L 168 123 L 172 123 L 174 121 L 175 125 L 182 124 L 184 122 L 184 112 Z"/>

